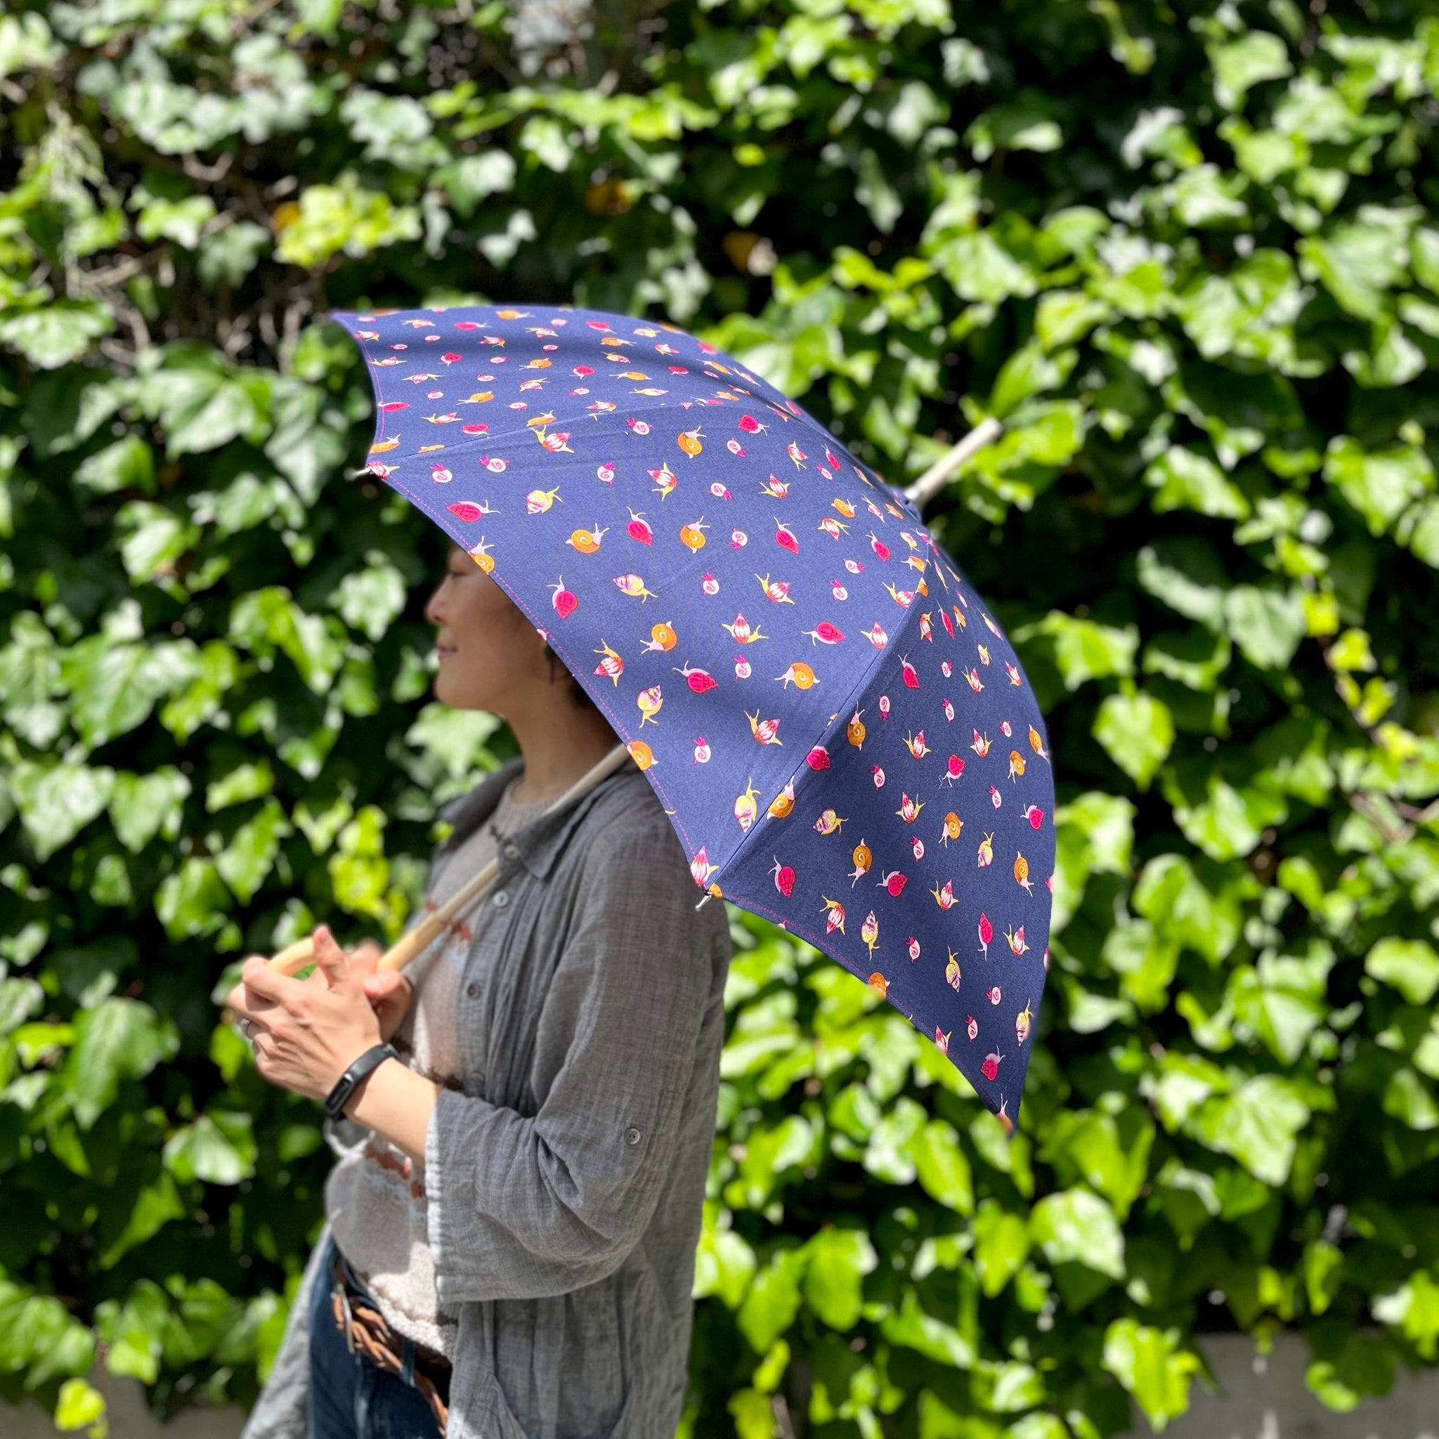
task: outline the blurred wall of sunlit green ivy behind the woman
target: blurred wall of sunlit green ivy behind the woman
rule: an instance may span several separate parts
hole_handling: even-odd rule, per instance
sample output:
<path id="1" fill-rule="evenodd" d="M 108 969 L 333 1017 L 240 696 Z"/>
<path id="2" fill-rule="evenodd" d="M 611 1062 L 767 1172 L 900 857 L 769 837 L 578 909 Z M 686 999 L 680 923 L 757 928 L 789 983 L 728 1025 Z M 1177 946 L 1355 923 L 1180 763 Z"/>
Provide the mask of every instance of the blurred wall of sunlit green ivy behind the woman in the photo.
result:
<path id="1" fill-rule="evenodd" d="M 94 0 L 0 17 L 0 1392 L 248 1402 L 319 1219 L 227 963 L 394 935 L 514 753 L 330 307 L 665 317 L 888 473 L 1061 806 L 1019 1134 L 734 912 L 685 1432 L 1098 1439 L 1439 1357 L 1439 6 Z M 1439 371 L 1436 371 L 1439 373 Z"/>

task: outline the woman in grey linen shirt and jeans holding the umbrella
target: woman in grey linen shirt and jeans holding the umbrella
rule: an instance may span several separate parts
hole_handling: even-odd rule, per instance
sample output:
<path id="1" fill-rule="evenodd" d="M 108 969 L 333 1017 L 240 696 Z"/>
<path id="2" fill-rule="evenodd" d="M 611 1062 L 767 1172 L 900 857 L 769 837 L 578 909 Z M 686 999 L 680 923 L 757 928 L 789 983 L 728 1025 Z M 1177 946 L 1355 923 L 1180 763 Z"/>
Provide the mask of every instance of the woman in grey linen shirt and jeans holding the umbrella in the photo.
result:
<path id="1" fill-rule="evenodd" d="M 273 1084 L 324 1099 L 328 1223 L 245 1439 L 671 1439 L 714 1143 L 730 934 L 617 741 L 499 586 L 452 547 L 426 609 L 443 704 L 521 757 L 445 810 L 427 904 L 495 856 L 479 909 L 406 976 L 315 931 L 227 1003 Z M 413 983 L 412 983 L 413 981 Z"/>

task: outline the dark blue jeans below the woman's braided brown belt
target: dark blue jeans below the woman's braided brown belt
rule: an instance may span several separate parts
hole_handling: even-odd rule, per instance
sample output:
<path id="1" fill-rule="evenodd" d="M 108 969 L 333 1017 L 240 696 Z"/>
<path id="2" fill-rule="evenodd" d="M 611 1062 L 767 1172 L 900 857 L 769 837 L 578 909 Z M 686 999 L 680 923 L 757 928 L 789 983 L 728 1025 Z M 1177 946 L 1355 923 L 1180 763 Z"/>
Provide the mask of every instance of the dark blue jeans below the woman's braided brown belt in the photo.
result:
<path id="1" fill-rule="evenodd" d="M 330 1298 L 337 1252 L 331 1239 L 309 1302 L 308 1439 L 439 1439 L 435 1415 L 420 1392 L 345 1345 Z M 350 1278 L 361 1288 L 353 1274 Z M 414 1363 L 410 1340 L 404 1341 L 404 1361 L 409 1373 Z"/>

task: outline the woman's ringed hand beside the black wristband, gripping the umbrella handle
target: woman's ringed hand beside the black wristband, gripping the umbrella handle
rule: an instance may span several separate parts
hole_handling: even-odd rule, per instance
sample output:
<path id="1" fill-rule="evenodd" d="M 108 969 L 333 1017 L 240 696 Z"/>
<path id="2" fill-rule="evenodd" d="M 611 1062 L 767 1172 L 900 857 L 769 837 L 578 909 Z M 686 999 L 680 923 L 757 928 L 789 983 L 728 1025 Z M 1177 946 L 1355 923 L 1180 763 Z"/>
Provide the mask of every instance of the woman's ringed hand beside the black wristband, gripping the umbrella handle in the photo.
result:
<path id="1" fill-rule="evenodd" d="M 366 973 L 366 960 L 353 961 L 335 944 L 328 925 L 315 930 L 314 944 L 317 973 L 324 983 L 278 974 L 262 958 L 252 957 L 226 1003 L 240 1019 L 250 1020 L 249 1038 L 262 1078 L 324 1099 L 345 1069 L 381 1042 L 381 1019 L 364 987 L 366 980 L 381 976 L 373 967 Z M 393 1014 L 399 996 L 387 980 L 380 989 L 381 1002 Z M 406 996 L 399 1003 L 400 1016 L 407 1004 Z"/>

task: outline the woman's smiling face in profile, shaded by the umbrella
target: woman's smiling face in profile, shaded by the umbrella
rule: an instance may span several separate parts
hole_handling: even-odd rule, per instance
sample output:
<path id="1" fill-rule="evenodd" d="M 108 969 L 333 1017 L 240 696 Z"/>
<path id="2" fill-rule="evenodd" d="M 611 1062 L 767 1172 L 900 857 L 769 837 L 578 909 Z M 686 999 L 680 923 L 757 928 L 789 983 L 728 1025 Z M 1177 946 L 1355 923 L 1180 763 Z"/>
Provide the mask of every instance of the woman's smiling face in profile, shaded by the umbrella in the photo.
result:
<path id="1" fill-rule="evenodd" d="M 453 709 L 505 715 L 527 692 L 548 688 L 544 640 L 509 596 L 459 545 L 425 606 L 440 668 L 435 698 Z"/>

